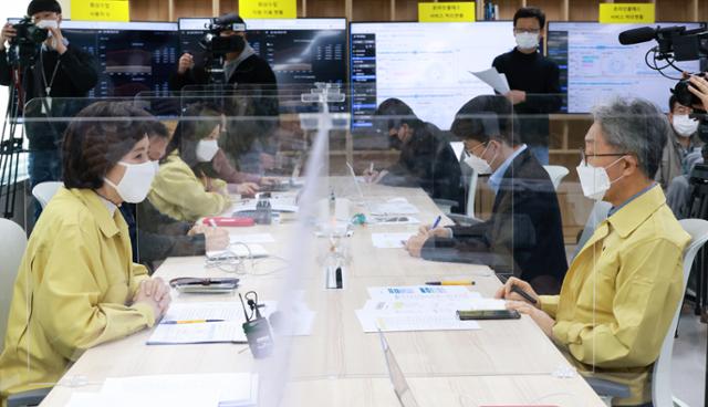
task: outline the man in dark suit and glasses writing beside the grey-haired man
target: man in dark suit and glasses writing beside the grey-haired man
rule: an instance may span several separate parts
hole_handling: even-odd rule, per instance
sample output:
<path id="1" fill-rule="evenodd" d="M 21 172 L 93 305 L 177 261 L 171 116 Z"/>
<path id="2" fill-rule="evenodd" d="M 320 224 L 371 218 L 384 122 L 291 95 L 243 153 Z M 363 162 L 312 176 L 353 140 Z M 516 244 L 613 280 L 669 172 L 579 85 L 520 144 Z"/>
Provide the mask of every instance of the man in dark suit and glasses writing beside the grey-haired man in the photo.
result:
<path id="1" fill-rule="evenodd" d="M 471 227 L 424 227 L 406 249 L 426 260 L 487 264 L 558 293 L 568 269 L 558 197 L 545 169 L 520 144 L 512 111 L 501 96 L 477 96 L 451 127 L 470 154 L 466 163 L 478 174 L 491 173 L 491 218 Z"/>

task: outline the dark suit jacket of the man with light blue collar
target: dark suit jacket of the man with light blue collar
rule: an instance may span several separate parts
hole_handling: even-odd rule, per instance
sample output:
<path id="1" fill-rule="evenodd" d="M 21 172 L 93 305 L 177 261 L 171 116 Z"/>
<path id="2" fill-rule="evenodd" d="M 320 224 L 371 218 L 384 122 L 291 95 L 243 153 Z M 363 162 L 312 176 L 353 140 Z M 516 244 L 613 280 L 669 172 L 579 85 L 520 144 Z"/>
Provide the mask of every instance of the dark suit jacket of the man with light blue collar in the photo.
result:
<path id="1" fill-rule="evenodd" d="M 487 264 L 539 293 L 558 293 L 568 270 L 558 197 L 548 173 L 528 149 L 504 173 L 486 222 L 452 227 L 452 239 L 431 238 L 421 255 L 434 261 Z"/>

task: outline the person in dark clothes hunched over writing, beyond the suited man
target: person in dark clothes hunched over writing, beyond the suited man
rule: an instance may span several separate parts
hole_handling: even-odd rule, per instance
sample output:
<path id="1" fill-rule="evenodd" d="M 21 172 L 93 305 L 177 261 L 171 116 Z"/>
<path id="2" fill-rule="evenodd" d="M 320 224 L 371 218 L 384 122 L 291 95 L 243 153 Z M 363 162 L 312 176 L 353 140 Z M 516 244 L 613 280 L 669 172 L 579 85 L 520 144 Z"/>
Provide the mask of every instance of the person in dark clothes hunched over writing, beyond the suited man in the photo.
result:
<path id="1" fill-rule="evenodd" d="M 398 163 L 381 173 L 366 170 L 371 182 L 394 187 L 423 188 L 433 199 L 447 199 L 462 207 L 460 165 L 440 129 L 420 121 L 397 98 L 384 101 L 374 114 L 374 124 L 400 150 Z"/>

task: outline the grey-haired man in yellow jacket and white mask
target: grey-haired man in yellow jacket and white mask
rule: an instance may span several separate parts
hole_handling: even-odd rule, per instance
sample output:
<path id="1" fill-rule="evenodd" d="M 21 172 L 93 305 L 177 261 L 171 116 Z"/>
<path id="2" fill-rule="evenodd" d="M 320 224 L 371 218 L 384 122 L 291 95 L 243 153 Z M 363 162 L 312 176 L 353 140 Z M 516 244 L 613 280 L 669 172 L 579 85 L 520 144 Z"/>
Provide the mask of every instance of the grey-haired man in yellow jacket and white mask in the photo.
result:
<path id="1" fill-rule="evenodd" d="M 529 314 L 581 373 L 628 385 L 632 396 L 615 405 L 650 406 L 649 374 L 684 294 L 690 242 L 653 177 L 670 129 L 643 100 L 616 100 L 593 115 L 577 174 L 586 197 L 612 204 L 608 218 L 571 263 L 560 295 L 538 295 L 512 278 L 497 298 L 513 300 L 507 306 Z"/>

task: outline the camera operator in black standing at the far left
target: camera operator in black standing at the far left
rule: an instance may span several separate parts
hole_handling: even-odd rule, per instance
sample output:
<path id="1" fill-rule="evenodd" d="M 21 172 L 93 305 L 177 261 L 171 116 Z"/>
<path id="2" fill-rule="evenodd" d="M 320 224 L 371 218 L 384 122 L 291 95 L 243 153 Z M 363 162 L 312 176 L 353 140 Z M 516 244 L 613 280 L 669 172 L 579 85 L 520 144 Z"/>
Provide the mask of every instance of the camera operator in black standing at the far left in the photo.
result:
<path id="1" fill-rule="evenodd" d="M 49 30 L 49 38 L 41 44 L 37 44 L 37 56 L 30 66 L 21 66 L 22 92 L 27 103 L 35 97 L 85 97 L 98 81 L 98 71 L 94 58 L 79 48 L 72 46 L 62 35 L 60 24 L 62 9 L 56 0 L 33 0 L 30 2 L 27 14 L 39 28 Z M 12 46 L 12 41 L 18 32 L 12 24 L 6 24 L 1 32 L 0 43 L 0 85 L 13 86 L 12 70 L 8 62 L 6 42 Z M 10 101 L 10 104 L 14 101 Z M 25 117 L 71 117 L 77 113 L 80 103 L 59 102 L 46 100 L 44 103 L 31 103 L 23 112 L 24 106 L 18 106 L 20 114 Z M 29 175 L 30 184 L 35 185 L 50 180 L 61 179 L 61 143 L 66 122 L 52 119 L 32 122 L 25 125 L 30 142 Z M 35 218 L 41 212 L 41 206 L 35 202 Z"/>

